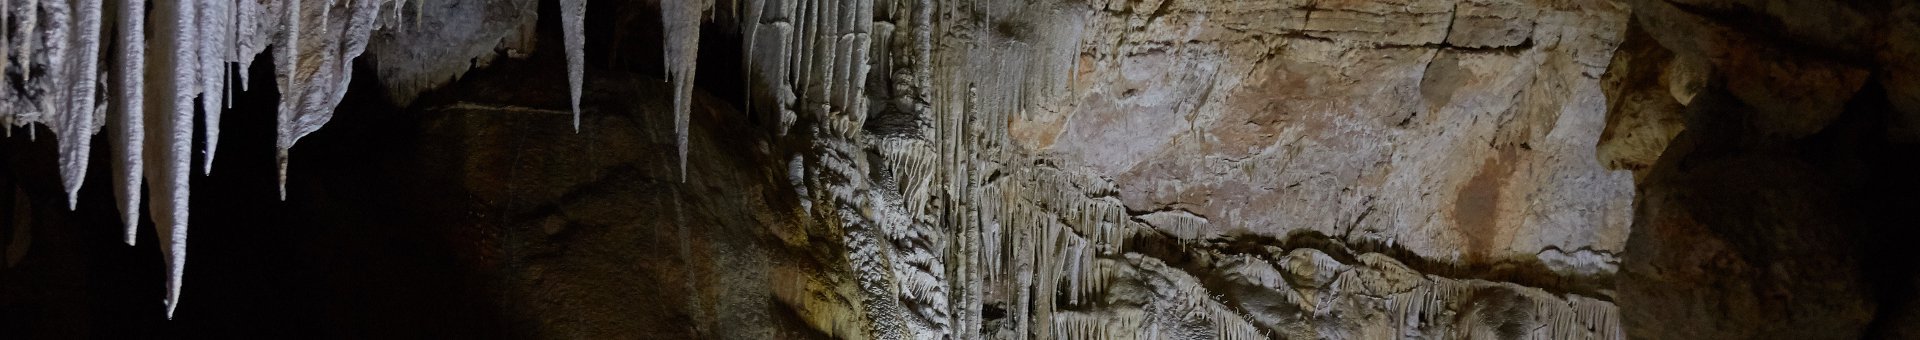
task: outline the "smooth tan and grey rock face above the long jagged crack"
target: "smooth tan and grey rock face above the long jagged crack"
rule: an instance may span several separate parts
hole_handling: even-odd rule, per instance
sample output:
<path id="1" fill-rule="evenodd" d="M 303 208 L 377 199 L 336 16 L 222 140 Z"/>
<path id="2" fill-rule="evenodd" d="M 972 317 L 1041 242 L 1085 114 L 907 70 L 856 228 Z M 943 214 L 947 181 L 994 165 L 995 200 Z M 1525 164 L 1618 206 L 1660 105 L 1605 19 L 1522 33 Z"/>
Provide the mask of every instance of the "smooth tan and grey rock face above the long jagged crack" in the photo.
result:
<path id="1" fill-rule="evenodd" d="M 1592 161 L 1622 8 L 1150 10 L 1139 29 L 1167 35 L 1087 44 L 1079 100 L 1014 121 L 1058 133 L 1016 142 L 1112 177 L 1131 209 L 1204 215 L 1208 234 L 1319 231 L 1475 263 L 1626 236 L 1630 177 Z M 1135 25 L 1106 17 L 1089 21 Z"/>

